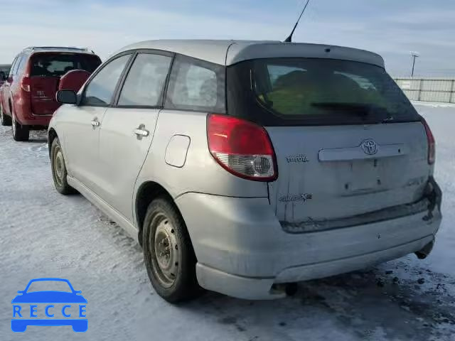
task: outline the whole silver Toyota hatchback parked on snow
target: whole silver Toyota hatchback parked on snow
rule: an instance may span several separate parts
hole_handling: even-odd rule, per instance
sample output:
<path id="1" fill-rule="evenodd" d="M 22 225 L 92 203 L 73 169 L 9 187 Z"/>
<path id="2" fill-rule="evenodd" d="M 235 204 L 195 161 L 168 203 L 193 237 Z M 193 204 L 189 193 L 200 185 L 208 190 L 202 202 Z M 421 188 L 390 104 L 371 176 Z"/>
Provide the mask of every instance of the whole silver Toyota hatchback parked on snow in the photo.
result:
<path id="1" fill-rule="evenodd" d="M 432 250 L 434 137 L 375 53 L 156 40 L 103 63 L 48 130 L 55 188 L 141 244 L 169 302 L 295 283 Z"/>

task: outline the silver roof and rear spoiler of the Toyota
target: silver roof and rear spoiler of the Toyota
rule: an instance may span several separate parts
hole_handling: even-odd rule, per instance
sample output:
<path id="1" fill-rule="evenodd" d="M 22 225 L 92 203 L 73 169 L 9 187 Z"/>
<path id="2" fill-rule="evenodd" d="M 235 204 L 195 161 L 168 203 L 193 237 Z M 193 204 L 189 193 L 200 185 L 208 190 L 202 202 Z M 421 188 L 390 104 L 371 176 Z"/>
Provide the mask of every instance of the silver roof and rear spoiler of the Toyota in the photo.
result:
<path id="1" fill-rule="evenodd" d="M 257 58 L 304 57 L 353 60 L 384 67 L 380 55 L 366 50 L 269 40 L 147 40 L 127 45 L 117 53 L 138 49 L 166 50 L 220 65 Z"/>

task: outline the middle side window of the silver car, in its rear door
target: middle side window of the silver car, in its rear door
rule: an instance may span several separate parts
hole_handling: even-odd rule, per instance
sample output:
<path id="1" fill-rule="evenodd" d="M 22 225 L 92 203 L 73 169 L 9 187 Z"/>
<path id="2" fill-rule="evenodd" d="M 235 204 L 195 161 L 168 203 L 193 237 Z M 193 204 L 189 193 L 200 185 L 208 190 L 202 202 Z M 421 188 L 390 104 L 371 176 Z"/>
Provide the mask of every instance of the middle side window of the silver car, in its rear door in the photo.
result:
<path id="1" fill-rule="evenodd" d="M 167 55 L 139 53 L 120 92 L 119 106 L 161 105 L 164 85 L 172 58 Z"/>

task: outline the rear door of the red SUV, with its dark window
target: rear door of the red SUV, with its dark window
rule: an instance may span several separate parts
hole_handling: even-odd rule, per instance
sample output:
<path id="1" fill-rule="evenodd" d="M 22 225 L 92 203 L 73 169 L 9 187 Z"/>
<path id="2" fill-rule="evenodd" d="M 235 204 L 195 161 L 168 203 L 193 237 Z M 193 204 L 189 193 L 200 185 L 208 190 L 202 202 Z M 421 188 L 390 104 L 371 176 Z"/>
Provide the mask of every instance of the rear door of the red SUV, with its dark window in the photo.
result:
<path id="1" fill-rule="evenodd" d="M 35 115 L 51 115 L 60 104 L 55 100 L 60 77 L 70 70 L 93 72 L 101 60 L 88 53 L 35 53 L 30 60 L 31 110 Z"/>

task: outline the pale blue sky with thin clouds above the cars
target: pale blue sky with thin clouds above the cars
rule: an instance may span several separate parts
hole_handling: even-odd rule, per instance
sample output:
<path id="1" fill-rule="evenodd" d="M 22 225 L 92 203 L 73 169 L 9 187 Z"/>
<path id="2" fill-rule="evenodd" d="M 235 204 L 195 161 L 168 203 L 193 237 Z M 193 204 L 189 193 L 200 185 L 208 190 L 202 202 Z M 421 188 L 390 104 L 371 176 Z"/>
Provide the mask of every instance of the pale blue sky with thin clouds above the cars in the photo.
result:
<path id="1" fill-rule="evenodd" d="M 88 47 L 104 60 L 149 39 L 284 40 L 304 0 L 0 0 L 0 64 L 30 45 Z M 455 1 L 311 0 L 294 41 L 379 53 L 391 75 L 455 76 Z"/>

